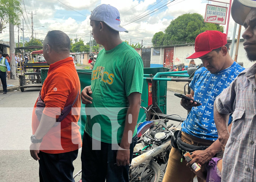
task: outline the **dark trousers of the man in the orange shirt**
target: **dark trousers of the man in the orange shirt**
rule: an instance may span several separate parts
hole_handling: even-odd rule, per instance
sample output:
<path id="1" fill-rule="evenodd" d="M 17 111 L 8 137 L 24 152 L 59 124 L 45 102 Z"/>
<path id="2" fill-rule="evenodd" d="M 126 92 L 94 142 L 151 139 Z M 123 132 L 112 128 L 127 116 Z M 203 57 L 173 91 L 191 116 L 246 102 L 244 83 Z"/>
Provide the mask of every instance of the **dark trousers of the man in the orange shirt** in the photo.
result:
<path id="1" fill-rule="evenodd" d="M 75 182 L 73 161 L 77 155 L 78 150 L 60 154 L 40 151 L 38 154 L 40 182 Z"/>

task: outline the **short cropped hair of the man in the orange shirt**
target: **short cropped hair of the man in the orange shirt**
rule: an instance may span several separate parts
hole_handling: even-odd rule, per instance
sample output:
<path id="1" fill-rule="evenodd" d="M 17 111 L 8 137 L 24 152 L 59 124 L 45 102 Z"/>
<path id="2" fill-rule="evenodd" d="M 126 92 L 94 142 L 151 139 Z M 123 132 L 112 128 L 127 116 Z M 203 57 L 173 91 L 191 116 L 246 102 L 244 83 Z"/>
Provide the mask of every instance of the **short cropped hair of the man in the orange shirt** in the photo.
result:
<path id="1" fill-rule="evenodd" d="M 44 40 L 44 46 L 49 46 L 56 52 L 70 50 L 70 39 L 66 33 L 60 30 L 52 30 L 47 33 Z"/>

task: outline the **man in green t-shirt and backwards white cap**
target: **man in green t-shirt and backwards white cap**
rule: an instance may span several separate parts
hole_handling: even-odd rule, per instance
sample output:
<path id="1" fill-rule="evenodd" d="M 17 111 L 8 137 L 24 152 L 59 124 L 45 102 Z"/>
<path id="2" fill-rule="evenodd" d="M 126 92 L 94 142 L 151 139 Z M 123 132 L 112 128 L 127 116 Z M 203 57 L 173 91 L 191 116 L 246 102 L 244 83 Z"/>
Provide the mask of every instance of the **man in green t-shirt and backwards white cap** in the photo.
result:
<path id="1" fill-rule="evenodd" d="M 91 13 L 93 37 L 104 46 L 97 56 L 91 86 L 84 88 L 87 120 L 82 146 L 83 182 L 128 182 L 138 140 L 137 120 L 143 85 L 140 55 L 120 39 L 120 14 L 102 4 Z"/>

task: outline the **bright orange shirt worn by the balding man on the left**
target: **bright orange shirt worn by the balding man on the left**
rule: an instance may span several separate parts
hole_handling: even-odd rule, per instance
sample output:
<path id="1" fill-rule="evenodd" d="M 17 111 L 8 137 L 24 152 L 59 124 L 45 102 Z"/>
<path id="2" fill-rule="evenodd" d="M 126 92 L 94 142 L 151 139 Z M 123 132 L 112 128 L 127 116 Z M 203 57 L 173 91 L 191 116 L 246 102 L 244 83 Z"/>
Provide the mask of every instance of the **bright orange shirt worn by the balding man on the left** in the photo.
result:
<path id="1" fill-rule="evenodd" d="M 58 118 L 60 111 L 65 106 L 74 102 L 78 92 L 79 97 L 69 114 L 57 126 L 53 126 L 44 136 L 40 145 L 41 151 L 58 154 L 74 151 L 82 146 L 79 132 L 80 127 L 77 124 L 81 107 L 80 82 L 73 59 L 68 57 L 50 64 L 47 78 L 41 90 L 41 97 L 45 102 L 43 113 L 52 118 Z M 32 115 L 33 134 L 39 125 L 35 115 L 35 106 Z"/>

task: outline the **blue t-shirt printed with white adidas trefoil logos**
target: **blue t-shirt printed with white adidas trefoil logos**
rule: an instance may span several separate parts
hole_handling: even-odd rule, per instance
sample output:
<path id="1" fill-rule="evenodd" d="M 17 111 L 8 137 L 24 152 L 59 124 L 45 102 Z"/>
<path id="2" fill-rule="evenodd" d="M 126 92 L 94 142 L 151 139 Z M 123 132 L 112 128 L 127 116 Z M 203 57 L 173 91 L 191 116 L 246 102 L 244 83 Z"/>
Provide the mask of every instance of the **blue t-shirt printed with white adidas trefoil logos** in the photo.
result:
<path id="1" fill-rule="evenodd" d="M 214 101 L 244 69 L 234 62 L 216 74 L 211 74 L 205 67 L 195 72 L 189 87 L 195 92 L 194 99 L 202 105 L 192 107 L 187 119 L 182 123 L 183 132 L 210 141 L 218 139 L 213 116 Z"/>

